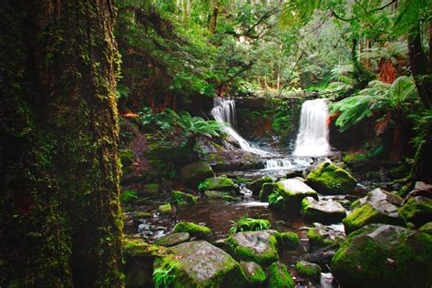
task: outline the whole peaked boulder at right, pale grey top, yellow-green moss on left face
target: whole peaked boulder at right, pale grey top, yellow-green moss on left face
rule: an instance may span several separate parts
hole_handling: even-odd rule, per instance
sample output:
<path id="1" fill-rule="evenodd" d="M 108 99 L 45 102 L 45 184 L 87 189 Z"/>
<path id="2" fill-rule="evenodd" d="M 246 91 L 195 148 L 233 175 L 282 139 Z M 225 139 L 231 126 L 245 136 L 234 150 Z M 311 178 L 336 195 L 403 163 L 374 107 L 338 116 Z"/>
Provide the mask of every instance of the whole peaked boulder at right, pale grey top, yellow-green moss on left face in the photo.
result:
<path id="1" fill-rule="evenodd" d="M 370 191 L 365 198 L 356 203 L 355 210 L 342 221 L 346 234 L 372 223 L 403 225 L 404 221 L 399 217 L 396 206 L 401 202 L 400 197 L 385 190 Z"/>

